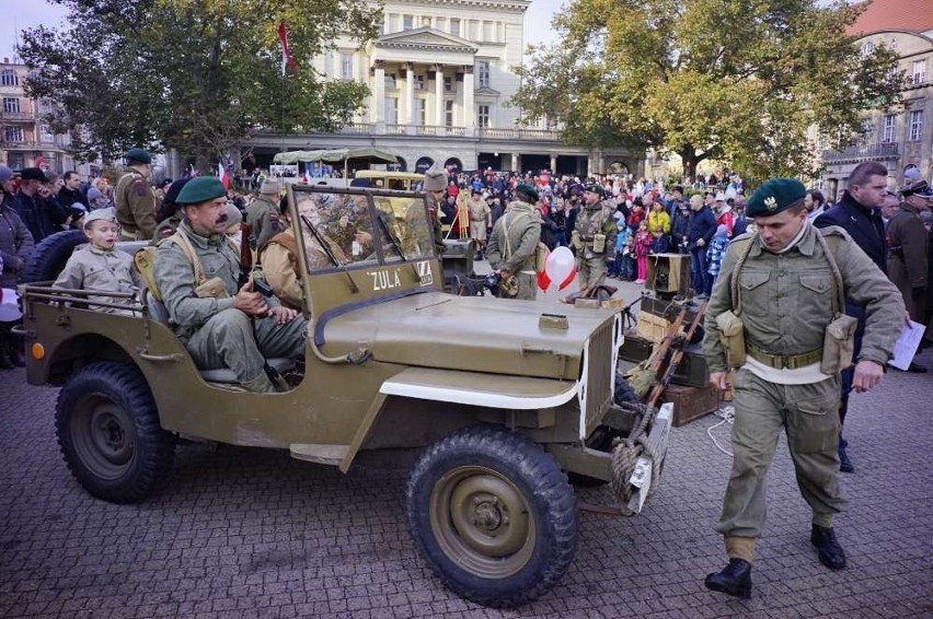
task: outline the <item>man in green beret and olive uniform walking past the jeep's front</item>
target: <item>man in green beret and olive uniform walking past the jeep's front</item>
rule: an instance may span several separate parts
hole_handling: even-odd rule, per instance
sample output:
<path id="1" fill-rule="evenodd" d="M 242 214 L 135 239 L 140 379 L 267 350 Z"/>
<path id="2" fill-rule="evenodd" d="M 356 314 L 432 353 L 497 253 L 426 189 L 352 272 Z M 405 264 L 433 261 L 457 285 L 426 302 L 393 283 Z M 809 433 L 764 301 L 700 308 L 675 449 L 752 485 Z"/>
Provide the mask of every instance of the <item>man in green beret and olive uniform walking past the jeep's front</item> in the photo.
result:
<path id="1" fill-rule="evenodd" d="M 751 595 L 765 477 L 782 428 L 800 494 L 813 510 L 810 542 L 823 565 L 845 567 L 832 528 L 833 515 L 845 506 L 837 479 L 839 373 L 851 363 L 845 347 L 836 344 L 851 343 L 855 327 L 855 319 L 843 315 L 844 299 L 867 310 L 855 360 L 856 393 L 882 379 L 903 325 L 897 289 L 845 231 L 819 231 L 807 221 L 805 195 L 793 178 L 758 188 L 747 209 L 758 233 L 729 244 L 706 312 L 710 381 L 725 389 L 727 370 L 736 369 L 736 413 L 733 469 L 716 527 L 729 563 L 705 584 L 744 598 Z M 727 337 L 733 334 L 744 334 L 744 340 Z"/>

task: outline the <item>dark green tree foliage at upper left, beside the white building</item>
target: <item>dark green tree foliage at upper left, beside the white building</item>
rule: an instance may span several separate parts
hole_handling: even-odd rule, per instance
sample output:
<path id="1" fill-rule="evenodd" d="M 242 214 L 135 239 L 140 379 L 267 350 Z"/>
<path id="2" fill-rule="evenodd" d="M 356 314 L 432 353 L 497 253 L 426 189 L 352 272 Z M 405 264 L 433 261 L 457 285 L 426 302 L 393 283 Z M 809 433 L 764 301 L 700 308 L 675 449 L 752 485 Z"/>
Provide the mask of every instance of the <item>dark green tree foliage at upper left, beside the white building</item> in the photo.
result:
<path id="1" fill-rule="evenodd" d="M 205 168 L 255 128 L 338 128 L 369 92 L 308 62 L 342 34 L 376 36 L 365 0 L 55 1 L 70 25 L 25 31 L 20 54 L 27 92 L 54 104 L 47 120 L 82 159 L 174 148 Z M 286 78 L 280 20 L 298 62 Z"/>

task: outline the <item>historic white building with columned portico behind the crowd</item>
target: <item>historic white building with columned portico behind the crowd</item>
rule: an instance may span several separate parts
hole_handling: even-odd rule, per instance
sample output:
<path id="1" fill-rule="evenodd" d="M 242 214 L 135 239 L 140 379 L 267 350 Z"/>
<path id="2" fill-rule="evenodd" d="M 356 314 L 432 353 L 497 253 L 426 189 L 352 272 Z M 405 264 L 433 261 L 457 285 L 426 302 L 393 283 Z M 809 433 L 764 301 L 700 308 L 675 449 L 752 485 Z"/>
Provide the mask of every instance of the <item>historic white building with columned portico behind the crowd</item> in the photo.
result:
<path id="1" fill-rule="evenodd" d="M 337 133 L 283 138 L 258 133 L 249 144 L 260 165 L 295 149 L 375 147 L 407 171 L 433 162 L 461 170 L 548 168 L 585 175 L 640 174 L 643 153 L 592 152 L 564 144 L 553 127 L 519 128 L 508 105 L 519 87 L 527 0 L 387 0 L 379 37 L 362 49 L 349 38 L 314 60 L 329 79 L 369 86 L 366 109 Z"/>

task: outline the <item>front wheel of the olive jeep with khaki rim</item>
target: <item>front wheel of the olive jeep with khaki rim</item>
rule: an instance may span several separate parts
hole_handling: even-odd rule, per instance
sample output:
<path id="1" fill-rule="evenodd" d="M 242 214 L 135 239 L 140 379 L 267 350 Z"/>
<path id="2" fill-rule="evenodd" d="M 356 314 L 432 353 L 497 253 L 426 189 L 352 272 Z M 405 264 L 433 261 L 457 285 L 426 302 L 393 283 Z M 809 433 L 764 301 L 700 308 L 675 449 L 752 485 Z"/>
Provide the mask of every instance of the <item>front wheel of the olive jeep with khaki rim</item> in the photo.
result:
<path id="1" fill-rule="evenodd" d="M 566 477 L 539 445 L 503 428 L 464 428 L 428 447 L 408 479 L 407 511 L 434 572 L 484 606 L 537 599 L 576 550 Z"/>

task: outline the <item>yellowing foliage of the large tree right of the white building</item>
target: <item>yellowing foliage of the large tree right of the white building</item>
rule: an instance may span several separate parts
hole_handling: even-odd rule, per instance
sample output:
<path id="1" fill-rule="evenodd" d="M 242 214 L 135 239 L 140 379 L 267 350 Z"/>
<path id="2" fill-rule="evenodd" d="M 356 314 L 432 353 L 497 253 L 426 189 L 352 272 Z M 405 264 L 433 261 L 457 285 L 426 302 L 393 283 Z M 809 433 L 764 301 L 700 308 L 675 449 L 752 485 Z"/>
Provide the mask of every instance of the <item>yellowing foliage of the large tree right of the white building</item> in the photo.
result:
<path id="1" fill-rule="evenodd" d="M 511 100 L 567 141 L 676 152 L 752 175 L 813 174 L 807 128 L 851 142 L 871 107 L 899 105 L 897 54 L 845 34 L 865 4 L 815 0 L 572 0 L 560 43 L 531 48 Z"/>

